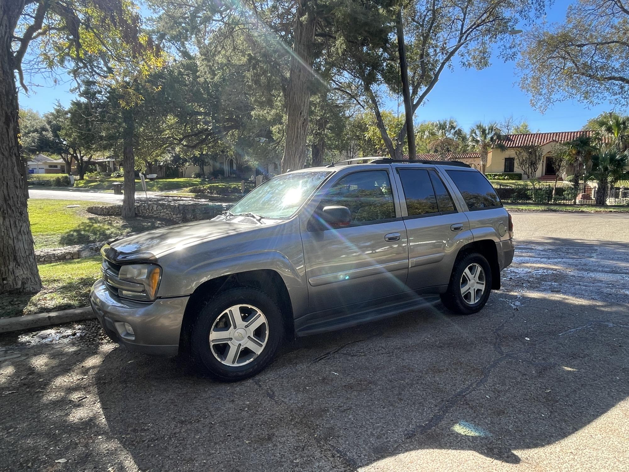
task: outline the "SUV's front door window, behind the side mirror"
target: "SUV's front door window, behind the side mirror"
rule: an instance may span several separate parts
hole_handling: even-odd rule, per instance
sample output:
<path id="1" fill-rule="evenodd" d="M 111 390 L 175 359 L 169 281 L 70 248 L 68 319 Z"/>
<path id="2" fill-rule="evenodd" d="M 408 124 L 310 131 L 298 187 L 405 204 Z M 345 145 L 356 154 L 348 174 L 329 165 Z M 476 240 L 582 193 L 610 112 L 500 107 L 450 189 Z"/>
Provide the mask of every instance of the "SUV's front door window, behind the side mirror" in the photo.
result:
<path id="1" fill-rule="evenodd" d="M 342 177 L 321 199 L 318 210 L 331 205 L 347 206 L 352 213 L 352 223 L 377 223 L 395 218 L 389 173 L 364 171 Z"/>

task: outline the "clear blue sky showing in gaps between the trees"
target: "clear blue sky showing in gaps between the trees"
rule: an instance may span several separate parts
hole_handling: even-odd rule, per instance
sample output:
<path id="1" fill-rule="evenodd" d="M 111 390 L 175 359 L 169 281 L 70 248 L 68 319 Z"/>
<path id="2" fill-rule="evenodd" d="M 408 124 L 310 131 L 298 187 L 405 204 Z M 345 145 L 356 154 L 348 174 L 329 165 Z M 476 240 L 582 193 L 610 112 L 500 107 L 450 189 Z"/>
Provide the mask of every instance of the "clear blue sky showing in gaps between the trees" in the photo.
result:
<path id="1" fill-rule="evenodd" d="M 557 0 L 547 9 L 548 21 L 563 21 L 565 11 L 571 2 Z M 60 79 L 65 75 L 61 74 Z M 21 93 L 19 104 L 22 108 L 45 113 L 52 110 L 56 101 L 67 105 L 73 95 L 68 80 L 56 86 L 46 77 L 33 77 L 35 87 L 30 94 Z M 529 103 L 530 97 L 517 85 L 514 62 L 494 59 L 491 67 L 484 70 L 466 70 L 454 63 L 454 71 L 446 70 L 437 85 L 428 95 L 428 100 L 415 115 L 415 121 L 455 118 L 465 129 L 477 121 L 500 121 L 513 115 L 516 120 L 526 120 L 533 132 L 554 132 L 579 130 L 589 118 L 613 107 L 609 103 L 588 107 L 577 101 L 555 104 L 542 114 Z M 395 105 L 393 105 L 395 107 Z M 397 108 L 394 108 L 397 111 Z M 400 107 L 403 113 L 403 107 Z M 627 113 L 627 110 L 616 110 Z"/>

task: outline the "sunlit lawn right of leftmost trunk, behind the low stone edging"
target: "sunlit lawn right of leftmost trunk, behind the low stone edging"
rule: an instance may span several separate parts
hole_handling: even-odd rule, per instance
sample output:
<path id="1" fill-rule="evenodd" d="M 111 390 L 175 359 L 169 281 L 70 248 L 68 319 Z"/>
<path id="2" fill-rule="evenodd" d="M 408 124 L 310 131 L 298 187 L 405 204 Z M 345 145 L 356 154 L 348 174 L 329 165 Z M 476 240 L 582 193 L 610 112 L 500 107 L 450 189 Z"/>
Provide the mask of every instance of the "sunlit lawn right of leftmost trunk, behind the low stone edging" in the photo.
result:
<path id="1" fill-rule="evenodd" d="M 77 208 L 66 208 L 79 205 Z M 126 233 L 147 231 L 172 225 L 170 220 L 96 216 L 87 213 L 88 206 L 107 205 L 94 201 L 29 199 L 28 216 L 35 240 L 35 249 L 87 244 L 107 240 Z"/>

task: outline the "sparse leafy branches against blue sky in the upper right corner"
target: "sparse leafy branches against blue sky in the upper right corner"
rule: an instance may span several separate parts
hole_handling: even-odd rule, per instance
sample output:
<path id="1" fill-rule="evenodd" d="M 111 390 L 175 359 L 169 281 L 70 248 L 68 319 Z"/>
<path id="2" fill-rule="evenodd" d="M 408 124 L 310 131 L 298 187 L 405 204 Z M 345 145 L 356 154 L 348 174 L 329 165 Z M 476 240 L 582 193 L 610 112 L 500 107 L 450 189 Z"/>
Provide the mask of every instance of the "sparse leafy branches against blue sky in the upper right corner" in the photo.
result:
<path id="1" fill-rule="evenodd" d="M 579 0 L 564 23 L 539 23 L 523 37 L 520 86 L 545 110 L 556 101 L 629 103 L 629 10 L 621 3 Z"/>

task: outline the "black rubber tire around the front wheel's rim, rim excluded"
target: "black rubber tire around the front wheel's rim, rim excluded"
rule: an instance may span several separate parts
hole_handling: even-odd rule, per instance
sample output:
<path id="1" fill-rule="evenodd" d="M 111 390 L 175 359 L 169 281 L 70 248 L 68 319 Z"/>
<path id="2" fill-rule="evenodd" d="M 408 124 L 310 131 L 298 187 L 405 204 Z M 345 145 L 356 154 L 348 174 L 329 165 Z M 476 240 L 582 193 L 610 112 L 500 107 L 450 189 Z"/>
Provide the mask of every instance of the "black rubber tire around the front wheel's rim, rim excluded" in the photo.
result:
<path id="1" fill-rule="evenodd" d="M 211 351 L 209 334 L 216 319 L 223 315 L 227 308 L 238 303 L 253 305 L 264 313 L 268 323 L 268 339 L 262 352 L 252 361 L 241 366 L 227 366 L 216 359 Z M 201 308 L 192 326 L 190 340 L 192 361 L 216 379 L 230 382 L 243 380 L 254 376 L 270 364 L 283 338 L 282 313 L 269 295 L 256 288 L 228 289 L 216 295 Z"/>

